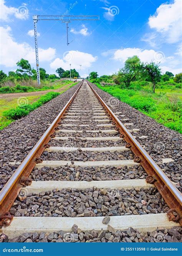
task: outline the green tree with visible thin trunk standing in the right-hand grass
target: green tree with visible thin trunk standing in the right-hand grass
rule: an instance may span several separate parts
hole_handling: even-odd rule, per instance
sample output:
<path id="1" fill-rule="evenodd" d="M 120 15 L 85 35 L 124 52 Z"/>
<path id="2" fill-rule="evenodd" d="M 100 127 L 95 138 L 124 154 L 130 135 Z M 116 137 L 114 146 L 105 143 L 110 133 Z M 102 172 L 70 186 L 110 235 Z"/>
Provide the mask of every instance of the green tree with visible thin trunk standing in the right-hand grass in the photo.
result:
<path id="1" fill-rule="evenodd" d="M 153 92 L 155 93 L 156 83 L 160 81 L 161 76 L 159 65 L 154 62 L 142 63 L 142 69 L 146 80 L 153 83 Z"/>

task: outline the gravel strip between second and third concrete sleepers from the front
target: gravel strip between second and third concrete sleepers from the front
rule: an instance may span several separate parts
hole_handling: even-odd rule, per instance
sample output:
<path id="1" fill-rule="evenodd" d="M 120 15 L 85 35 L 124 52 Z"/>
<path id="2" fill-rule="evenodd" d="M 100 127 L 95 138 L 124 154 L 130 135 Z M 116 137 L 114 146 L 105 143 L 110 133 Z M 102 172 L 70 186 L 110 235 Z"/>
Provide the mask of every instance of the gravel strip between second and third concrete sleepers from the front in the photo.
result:
<path id="1" fill-rule="evenodd" d="M 132 167 L 74 167 L 60 166 L 50 168 L 48 166 L 34 169 L 30 178 L 35 181 L 57 180 L 57 181 L 92 181 L 92 180 L 131 180 L 145 179 L 146 171 L 140 165 Z"/>

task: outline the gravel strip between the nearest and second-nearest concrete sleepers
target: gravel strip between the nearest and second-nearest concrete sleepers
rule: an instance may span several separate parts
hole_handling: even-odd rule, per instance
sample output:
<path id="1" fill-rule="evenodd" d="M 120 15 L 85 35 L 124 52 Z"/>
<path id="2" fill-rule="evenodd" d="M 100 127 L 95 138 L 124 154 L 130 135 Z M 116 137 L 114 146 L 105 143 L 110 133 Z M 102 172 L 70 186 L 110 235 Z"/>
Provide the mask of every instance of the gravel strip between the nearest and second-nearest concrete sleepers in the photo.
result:
<path id="1" fill-rule="evenodd" d="M 165 213 L 168 210 L 156 188 L 114 190 L 93 187 L 32 193 L 23 200 L 17 197 L 10 213 L 30 217 L 96 217 Z"/>

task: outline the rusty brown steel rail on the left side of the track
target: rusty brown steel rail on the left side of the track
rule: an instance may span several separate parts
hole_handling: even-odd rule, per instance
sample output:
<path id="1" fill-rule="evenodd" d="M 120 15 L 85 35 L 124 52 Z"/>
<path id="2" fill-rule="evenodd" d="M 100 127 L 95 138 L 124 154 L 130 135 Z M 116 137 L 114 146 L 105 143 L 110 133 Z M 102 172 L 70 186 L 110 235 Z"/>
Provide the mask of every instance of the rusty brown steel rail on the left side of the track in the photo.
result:
<path id="1" fill-rule="evenodd" d="M 10 213 L 8 213 L 9 209 L 11 208 L 13 202 L 17 198 L 18 193 L 20 192 L 23 185 L 30 185 L 31 180 L 28 179 L 31 171 L 33 170 L 34 166 L 36 165 L 36 158 L 39 158 L 43 151 L 46 148 L 46 144 L 50 141 L 51 135 L 55 132 L 55 128 L 59 125 L 61 118 L 67 108 L 69 107 L 70 103 L 73 101 L 75 96 L 77 95 L 79 89 L 81 88 L 83 81 L 81 81 L 80 86 L 75 91 L 73 96 L 69 99 L 60 113 L 56 116 L 55 120 L 51 123 L 48 129 L 43 133 L 41 138 L 32 148 L 32 150 L 28 153 L 26 158 L 23 162 L 18 166 L 17 170 L 13 173 L 11 178 L 7 181 L 4 185 L 2 190 L 0 191 L 0 226 L 5 223 L 5 219 L 11 219 Z M 3 218 L 6 217 L 6 218 Z M 10 222 L 10 221 L 9 221 Z M 8 224 L 8 223 L 6 223 Z"/>

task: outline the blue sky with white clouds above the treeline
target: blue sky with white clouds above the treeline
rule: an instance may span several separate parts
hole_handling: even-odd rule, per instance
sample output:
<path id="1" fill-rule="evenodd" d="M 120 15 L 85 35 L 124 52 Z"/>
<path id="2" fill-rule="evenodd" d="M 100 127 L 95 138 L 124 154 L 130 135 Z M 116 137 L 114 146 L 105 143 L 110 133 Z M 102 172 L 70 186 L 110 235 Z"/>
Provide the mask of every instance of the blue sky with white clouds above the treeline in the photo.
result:
<path id="1" fill-rule="evenodd" d="M 160 62 L 162 71 L 181 71 L 181 0 L 0 0 L 3 71 L 16 70 L 20 58 L 35 67 L 32 15 L 99 15 L 97 21 L 69 23 L 38 21 L 40 67 L 50 74 L 56 68 L 76 68 L 111 75 L 128 57 Z M 80 70 L 80 66 L 81 70 Z"/>

